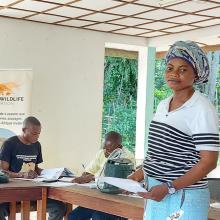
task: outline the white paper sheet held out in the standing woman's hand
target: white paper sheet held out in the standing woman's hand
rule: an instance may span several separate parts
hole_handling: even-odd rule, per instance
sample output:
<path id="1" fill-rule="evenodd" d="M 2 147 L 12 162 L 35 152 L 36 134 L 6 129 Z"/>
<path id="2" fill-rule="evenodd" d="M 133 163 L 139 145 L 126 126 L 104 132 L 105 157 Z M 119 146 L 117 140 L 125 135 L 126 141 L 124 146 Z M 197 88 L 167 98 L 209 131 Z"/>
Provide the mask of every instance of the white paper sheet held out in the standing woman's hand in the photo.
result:
<path id="1" fill-rule="evenodd" d="M 108 183 L 113 186 L 117 186 L 118 188 L 124 189 L 128 192 L 133 192 L 133 193 L 147 192 L 147 190 L 143 188 L 139 182 L 130 179 L 122 179 L 115 177 L 100 177 L 99 181 Z"/>

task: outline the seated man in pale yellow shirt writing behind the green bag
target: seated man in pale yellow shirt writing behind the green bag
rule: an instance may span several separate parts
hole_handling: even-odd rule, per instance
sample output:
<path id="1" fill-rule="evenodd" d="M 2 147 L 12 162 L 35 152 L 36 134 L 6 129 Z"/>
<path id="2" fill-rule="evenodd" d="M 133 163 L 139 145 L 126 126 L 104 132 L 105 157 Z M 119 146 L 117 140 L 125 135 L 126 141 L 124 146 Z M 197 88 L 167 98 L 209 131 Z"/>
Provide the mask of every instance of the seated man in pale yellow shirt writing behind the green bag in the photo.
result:
<path id="1" fill-rule="evenodd" d="M 106 134 L 105 142 L 103 149 L 101 149 L 97 154 L 95 159 L 86 167 L 85 172 L 82 176 L 75 178 L 73 181 L 76 183 L 88 183 L 92 180 L 95 180 L 95 175 L 99 175 L 107 158 L 109 155 L 117 148 L 123 149 L 124 157 L 130 159 L 135 163 L 134 155 L 128 151 L 126 148 L 123 148 L 122 137 L 119 133 L 111 131 Z M 74 209 L 68 216 L 68 220 L 123 220 L 125 218 L 110 215 L 108 213 L 99 212 L 92 209 L 87 209 L 83 207 L 77 207 Z"/>

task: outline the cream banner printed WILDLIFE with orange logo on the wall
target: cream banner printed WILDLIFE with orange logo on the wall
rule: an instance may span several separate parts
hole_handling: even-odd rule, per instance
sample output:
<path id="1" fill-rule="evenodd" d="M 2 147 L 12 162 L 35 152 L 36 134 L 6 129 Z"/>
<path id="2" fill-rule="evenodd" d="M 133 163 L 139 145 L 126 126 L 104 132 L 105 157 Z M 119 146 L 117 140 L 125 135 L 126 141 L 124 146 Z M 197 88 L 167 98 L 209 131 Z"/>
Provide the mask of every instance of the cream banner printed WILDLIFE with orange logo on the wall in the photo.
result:
<path id="1" fill-rule="evenodd" d="M 0 69 L 0 146 L 21 133 L 22 122 L 31 109 L 31 70 Z"/>

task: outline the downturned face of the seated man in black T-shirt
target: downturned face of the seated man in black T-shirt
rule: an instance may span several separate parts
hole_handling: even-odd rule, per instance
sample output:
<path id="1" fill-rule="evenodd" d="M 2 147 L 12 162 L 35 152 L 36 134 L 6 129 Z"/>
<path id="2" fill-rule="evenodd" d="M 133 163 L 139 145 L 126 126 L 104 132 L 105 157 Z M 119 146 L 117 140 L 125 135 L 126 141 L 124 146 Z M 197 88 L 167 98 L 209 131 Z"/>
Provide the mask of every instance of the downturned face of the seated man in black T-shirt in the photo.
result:
<path id="1" fill-rule="evenodd" d="M 29 125 L 27 128 L 23 128 L 23 132 L 25 140 L 33 144 L 38 141 L 41 132 L 41 126 Z"/>

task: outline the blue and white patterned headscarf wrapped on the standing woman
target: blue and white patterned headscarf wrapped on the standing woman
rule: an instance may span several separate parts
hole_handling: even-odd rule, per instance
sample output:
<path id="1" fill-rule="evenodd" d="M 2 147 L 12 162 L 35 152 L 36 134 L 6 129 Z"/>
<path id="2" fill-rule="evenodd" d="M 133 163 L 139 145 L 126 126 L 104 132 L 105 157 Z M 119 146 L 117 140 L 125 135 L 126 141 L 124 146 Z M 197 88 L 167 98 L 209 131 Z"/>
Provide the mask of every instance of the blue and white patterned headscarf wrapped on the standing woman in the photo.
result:
<path id="1" fill-rule="evenodd" d="M 188 62 L 195 70 L 198 79 L 196 84 L 208 81 L 210 73 L 208 59 L 204 51 L 192 41 L 177 41 L 169 49 L 166 55 L 166 64 L 174 59 L 181 58 Z"/>

